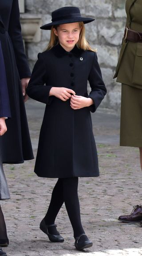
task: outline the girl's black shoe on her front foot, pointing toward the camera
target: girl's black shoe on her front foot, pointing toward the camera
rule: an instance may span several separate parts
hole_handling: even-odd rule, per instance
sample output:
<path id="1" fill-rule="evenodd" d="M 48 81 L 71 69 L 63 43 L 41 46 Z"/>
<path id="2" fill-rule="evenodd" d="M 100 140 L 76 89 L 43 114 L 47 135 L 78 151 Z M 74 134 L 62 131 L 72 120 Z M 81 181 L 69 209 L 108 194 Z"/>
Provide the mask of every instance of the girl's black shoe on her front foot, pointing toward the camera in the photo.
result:
<path id="1" fill-rule="evenodd" d="M 75 248 L 77 250 L 83 250 L 85 248 L 89 248 L 93 245 L 93 243 L 88 239 L 85 234 L 81 234 L 80 236 L 75 238 Z"/>

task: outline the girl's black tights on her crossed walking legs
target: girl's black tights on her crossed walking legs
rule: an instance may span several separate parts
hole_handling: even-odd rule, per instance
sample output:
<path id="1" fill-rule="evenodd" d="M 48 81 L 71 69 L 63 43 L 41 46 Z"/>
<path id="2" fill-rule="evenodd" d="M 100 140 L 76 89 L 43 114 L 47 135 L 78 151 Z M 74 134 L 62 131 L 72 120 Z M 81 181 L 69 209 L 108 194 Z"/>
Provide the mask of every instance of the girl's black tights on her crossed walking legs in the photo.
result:
<path id="1" fill-rule="evenodd" d="M 69 219 L 74 231 L 74 237 L 84 233 L 78 198 L 78 177 L 58 179 L 52 192 L 51 202 L 44 221 L 47 225 L 54 224 L 55 218 L 65 203 Z"/>

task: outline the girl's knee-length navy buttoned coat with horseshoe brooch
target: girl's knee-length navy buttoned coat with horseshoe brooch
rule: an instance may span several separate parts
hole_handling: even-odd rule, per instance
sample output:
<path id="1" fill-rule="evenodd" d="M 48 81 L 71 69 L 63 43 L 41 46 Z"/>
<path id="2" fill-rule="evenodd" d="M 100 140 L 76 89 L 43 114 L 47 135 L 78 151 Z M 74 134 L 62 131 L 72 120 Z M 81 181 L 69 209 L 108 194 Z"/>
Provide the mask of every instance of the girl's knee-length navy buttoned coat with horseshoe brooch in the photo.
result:
<path id="1" fill-rule="evenodd" d="M 76 46 L 66 52 L 58 44 L 38 57 L 27 88 L 28 96 L 46 104 L 36 174 L 55 178 L 99 176 L 90 111 L 95 112 L 106 87 L 96 53 Z M 64 102 L 49 96 L 51 87 L 66 87 L 76 95 L 88 97 L 87 80 L 91 86 L 89 97 L 94 101 L 90 107 L 73 110 L 70 100 Z"/>

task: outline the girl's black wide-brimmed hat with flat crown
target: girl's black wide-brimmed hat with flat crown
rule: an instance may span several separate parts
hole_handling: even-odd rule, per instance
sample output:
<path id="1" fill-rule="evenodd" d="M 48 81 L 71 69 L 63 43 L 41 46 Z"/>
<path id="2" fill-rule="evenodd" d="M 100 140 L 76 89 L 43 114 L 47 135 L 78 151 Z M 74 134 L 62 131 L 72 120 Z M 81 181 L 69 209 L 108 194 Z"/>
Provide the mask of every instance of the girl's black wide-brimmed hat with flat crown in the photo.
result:
<path id="1" fill-rule="evenodd" d="M 78 7 L 62 7 L 51 13 L 52 22 L 43 25 L 40 27 L 41 29 L 51 29 L 53 25 L 66 24 L 66 23 L 74 23 L 83 21 L 84 24 L 89 23 L 95 19 L 81 17 L 80 10 Z"/>

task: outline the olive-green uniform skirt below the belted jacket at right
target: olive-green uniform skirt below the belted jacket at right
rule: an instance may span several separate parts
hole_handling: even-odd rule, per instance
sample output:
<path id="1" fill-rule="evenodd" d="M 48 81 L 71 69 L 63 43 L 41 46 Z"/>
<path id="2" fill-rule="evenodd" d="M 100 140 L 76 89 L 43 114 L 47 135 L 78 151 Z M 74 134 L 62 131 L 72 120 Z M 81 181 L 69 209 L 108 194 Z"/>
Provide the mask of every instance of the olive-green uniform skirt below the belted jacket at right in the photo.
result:
<path id="1" fill-rule="evenodd" d="M 120 146 L 142 148 L 142 89 L 122 84 Z"/>

